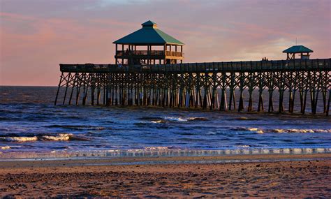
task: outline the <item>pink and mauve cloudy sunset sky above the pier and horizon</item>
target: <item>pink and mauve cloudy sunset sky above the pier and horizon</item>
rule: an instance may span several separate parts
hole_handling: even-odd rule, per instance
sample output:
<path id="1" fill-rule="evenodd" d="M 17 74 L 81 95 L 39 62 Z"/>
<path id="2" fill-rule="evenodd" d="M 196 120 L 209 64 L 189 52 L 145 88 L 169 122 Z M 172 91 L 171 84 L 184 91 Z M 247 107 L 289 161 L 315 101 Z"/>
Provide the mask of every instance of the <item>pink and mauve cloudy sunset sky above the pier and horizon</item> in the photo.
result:
<path id="1" fill-rule="evenodd" d="M 152 20 L 184 62 L 331 57 L 331 0 L 0 0 L 0 85 L 56 86 L 59 64 L 114 64 L 113 41 Z"/>

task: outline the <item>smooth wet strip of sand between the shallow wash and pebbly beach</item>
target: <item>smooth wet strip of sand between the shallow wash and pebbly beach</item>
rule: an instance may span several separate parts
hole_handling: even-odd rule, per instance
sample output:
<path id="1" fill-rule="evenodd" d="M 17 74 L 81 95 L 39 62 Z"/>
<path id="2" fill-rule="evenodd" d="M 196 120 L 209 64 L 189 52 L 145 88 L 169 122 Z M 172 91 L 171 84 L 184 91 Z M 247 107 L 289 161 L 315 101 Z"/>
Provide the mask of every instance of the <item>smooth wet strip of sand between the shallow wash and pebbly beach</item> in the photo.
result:
<path id="1" fill-rule="evenodd" d="M 180 164 L 180 163 L 253 163 L 277 161 L 311 161 L 331 160 L 331 153 L 318 154 L 234 154 L 214 156 L 115 156 L 115 157 L 60 157 L 60 158 L 29 158 L 29 159 L 0 159 L 0 168 L 8 168 L 12 164 L 22 167 L 57 166 L 65 162 L 66 165 L 153 165 L 153 164 Z"/>

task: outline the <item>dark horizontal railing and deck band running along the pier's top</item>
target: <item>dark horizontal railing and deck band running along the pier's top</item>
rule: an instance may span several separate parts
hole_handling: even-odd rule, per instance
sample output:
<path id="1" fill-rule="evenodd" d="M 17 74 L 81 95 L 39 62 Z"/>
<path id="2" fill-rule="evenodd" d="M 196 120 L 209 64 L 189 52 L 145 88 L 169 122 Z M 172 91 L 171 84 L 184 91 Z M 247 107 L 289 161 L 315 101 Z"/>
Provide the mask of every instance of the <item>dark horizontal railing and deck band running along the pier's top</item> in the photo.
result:
<path id="1" fill-rule="evenodd" d="M 60 64 L 61 72 L 77 73 L 222 73 L 249 71 L 331 71 L 331 59 L 224 61 L 128 66 L 117 64 Z"/>

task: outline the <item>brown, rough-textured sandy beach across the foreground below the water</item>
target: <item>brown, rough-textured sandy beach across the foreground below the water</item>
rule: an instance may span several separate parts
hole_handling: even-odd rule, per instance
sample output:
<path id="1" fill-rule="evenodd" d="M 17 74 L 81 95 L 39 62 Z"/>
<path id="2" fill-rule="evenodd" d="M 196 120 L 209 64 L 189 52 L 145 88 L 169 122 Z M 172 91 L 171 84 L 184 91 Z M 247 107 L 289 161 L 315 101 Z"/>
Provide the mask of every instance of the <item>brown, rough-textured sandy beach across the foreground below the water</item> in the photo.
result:
<path id="1" fill-rule="evenodd" d="M 331 154 L 2 160 L 0 198 L 330 198 L 330 167 Z"/>

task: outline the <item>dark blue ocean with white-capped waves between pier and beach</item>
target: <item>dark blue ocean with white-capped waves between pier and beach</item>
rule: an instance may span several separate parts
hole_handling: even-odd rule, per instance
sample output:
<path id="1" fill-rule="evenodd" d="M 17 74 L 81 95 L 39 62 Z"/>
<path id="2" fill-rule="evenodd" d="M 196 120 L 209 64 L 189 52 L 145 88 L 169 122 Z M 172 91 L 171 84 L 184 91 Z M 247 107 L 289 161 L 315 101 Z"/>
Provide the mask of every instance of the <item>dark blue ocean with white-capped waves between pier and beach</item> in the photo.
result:
<path id="1" fill-rule="evenodd" d="M 54 105 L 57 87 L 0 87 L 0 159 L 331 152 L 330 117 Z"/>

